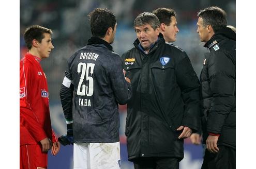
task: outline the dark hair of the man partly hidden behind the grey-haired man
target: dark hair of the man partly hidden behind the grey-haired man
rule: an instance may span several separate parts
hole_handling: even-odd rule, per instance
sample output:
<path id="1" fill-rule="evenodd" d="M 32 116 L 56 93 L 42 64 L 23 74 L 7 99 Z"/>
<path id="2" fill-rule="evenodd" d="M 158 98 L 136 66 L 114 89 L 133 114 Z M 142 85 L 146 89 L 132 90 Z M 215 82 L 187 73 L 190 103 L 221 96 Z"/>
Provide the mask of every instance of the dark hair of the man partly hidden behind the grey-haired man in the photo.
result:
<path id="1" fill-rule="evenodd" d="M 164 23 L 167 26 L 169 26 L 170 23 L 172 22 L 171 17 L 176 17 L 176 12 L 171 8 L 158 8 L 154 10 L 152 13 L 154 13 L 157 16 L 160 23 Z"/>

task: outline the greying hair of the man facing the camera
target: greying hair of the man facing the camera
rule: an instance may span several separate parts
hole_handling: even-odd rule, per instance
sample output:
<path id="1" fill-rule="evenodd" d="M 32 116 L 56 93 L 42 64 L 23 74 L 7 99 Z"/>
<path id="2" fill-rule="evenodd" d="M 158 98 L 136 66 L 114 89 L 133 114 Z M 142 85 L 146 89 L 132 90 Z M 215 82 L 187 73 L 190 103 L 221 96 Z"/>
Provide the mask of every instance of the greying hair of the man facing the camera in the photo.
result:
<path id="1" fill-rule="evenodd" d="M 159 20 L 154 13 L 143 12 L 137 16 L 134 20 L 134 28 L 135 26 L 142 26 L 149 24 L 154 30 L 160 26 Z"/>

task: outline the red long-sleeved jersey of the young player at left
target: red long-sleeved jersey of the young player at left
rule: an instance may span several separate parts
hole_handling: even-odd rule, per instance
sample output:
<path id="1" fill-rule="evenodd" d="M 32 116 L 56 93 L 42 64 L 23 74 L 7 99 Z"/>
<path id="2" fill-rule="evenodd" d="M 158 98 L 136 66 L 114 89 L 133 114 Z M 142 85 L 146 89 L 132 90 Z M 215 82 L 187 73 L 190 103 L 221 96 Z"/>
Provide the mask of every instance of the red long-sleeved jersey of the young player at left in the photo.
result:
<path id="1" fill-rule="evenodd" d="M 20 145 L 57 138 L 51 127 L 49 92 L 41 59 L 29 53 L 20 61 Z"/>

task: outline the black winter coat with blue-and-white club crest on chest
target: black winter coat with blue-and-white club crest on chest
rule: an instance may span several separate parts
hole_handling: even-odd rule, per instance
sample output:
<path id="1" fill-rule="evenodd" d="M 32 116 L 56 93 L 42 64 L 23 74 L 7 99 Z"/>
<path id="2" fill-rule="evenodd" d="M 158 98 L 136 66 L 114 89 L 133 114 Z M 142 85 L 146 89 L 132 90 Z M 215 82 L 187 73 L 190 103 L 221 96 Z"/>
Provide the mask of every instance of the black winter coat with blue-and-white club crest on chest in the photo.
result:
<path id="1" fill-rule="evenodd" d="M 128 159 L 176 157 L 183 159 L 183 125 L 200 128 L 199 80 L 186 53 L 165 43 L 159 35 L 148 54 L 134 48 L 122 55 L 126 76 L 132 85 L 127 104 Z"/>

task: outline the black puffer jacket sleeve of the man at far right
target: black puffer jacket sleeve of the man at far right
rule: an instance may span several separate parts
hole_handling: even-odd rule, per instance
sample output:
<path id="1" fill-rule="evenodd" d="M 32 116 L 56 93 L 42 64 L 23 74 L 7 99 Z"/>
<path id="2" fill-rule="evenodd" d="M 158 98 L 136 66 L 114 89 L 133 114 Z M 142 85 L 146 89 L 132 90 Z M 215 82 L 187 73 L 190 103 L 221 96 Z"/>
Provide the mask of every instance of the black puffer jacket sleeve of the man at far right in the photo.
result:
<path id="1" fill-rule="evenodd" d="M 213 100 L 207 119 L 207 132 L 221 134 L 225 119 L 235 104 L 235 64 L 223 51 L 211 52 L 208 75 Z"/>

